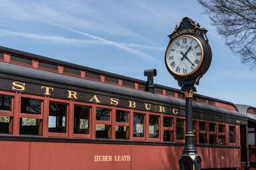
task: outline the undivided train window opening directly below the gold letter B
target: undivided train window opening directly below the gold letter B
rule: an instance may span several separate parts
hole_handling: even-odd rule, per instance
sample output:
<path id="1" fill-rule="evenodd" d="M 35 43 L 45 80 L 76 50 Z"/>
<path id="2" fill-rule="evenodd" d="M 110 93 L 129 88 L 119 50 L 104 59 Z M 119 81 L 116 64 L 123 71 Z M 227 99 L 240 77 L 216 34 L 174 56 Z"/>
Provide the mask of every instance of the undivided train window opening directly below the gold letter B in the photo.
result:
<path id="1" fill-rule="evenodd" d="M 133 137 L 144 137 L 144 121 L 144 114 L 134 113 Z"/>

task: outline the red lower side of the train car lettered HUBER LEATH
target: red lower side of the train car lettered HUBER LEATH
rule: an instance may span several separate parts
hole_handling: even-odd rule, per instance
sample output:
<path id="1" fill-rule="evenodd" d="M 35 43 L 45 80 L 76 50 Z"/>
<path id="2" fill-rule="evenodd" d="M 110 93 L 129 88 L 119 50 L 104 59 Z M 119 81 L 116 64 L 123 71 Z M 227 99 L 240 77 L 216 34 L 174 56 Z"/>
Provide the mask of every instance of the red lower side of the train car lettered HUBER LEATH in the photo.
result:
<path id="1" fill-rule="evenodd" d="M 0 166 L 9 170 L 178 169 L 183 147 L 0 141 Z M 240 150 L 201 147 L 202 168 L 240 167 Z M 131 161 L 95 162 L 95 155 L 130 155 Z"/>

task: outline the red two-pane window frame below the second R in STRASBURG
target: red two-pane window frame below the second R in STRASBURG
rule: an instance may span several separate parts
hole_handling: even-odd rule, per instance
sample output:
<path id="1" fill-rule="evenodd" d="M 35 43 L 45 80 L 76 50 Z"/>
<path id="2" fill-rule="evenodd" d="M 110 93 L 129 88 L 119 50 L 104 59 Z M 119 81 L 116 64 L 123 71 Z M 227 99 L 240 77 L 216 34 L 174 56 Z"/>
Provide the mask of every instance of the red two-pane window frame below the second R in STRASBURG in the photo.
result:
<path id="1" fill-rule="evenodd" d="M 171 118 L 171 126 L 165 126 L 165 124 L 164 124 L 164 118 L 165 117 L 169 117 L 169 118 Z M 162 120 L 162 123 L 161 123 L 161 126 L 162 126 L 162 133 L 161 133 L 161 136 L 162 136 L 162 139 L 163 139 L 163 142 L 165 142 L 165 143 L 173 143 L 174 141 L 175 141 L 175 139 L 174 139 L 174 126 L 175 126 L 175 124 L 174 124 L 174 119 L 175 119 L 175 117 L 174 116 L 170 116 L 170 115 L 167 115 L 167 114 L 162 114 L 161 115 L 161 119 L 163 119 Z M 167 132 L 167 131 L 169 131 L 170 132 L 170 135 L 172 136 L 172 137 L 170 137 L 170 141 L 166 141 L 165 139 L 166 139 L 166 137 L 165 137 L 165 131 Z"/>

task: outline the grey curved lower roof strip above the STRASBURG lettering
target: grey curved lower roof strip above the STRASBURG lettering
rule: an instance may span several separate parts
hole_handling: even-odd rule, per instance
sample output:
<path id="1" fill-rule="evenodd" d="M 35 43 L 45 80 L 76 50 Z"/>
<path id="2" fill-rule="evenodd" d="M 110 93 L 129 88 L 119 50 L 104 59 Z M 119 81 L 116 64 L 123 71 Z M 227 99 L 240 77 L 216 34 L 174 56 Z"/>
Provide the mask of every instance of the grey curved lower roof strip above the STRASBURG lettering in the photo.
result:
<path id="1" fill-rule="evenodd" d="M 122 86 L 114 86 L 112 84 L 104 84 L 102 82 L 95 82 L 92 80 L 86 80 L 76 78 L 73 76 L 66 76 L 57 74 L 54 72 L 47 72 L 44 70 L 36 70 L 34 68 L 28 68 L 24 66 L 18 66 L 15 64 L 9 64 L 0 62 L 0 77 L 3 75 L 10 75 L 19 78 L 28 78 L 30 80 L 39 80 L 42 82 L 52 82 L 54 84 L 61 84 L 66 86 L 73 86 L 79 88 L 87 88 L 95 91 L 107 92 L 108 94 L 118 94 L 122 96 L 130 96 L 133 98 L 140 98 L 144 100 L 151 100 L 155 102 L 164 102 L 167 104 L 185 106 L 185 100 L 179 98 L 173 98 L 171 96 L 163 96 L 159 94 L 152 94 L 151 92 L 144 92 L 140 90 L 134 90 L 131 88 L 124 88 Z M 194 108 L 203 110 L 204 112 L 217 112 L 226 116 L 247 118 L 244 114 L 234 110 L 228 110 L 224 108 L 218 108 L 210 106 L 208 104 L 200 104 L 198 102 L 193 103 Z"/>

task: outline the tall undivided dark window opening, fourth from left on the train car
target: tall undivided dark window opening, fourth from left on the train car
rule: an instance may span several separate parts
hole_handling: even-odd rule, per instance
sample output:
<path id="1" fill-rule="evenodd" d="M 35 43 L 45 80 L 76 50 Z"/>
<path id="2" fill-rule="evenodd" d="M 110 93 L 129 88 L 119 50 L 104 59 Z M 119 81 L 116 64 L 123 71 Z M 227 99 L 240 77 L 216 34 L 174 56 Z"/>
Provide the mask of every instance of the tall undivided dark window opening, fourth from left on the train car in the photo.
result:
<path id="1" fill-rule="evenodd" d="M 89 134 L 90 110 L 88 106 L 75 105 L 74 108 L 74 133 Z"/>

